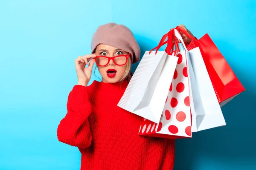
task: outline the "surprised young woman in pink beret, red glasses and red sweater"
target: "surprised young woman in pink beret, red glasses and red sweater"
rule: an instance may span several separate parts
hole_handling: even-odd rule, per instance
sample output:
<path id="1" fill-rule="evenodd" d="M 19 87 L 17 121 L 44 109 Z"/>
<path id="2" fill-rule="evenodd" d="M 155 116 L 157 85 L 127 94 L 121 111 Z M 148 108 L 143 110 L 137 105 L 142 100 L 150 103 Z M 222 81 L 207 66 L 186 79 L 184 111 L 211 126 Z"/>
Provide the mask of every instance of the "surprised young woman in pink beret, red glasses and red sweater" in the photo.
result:
<path id="1" fill-rule="evenodd" d="M 79 148 L 81 170 L 172 170 L 175 141 L 139 136 L 144 118 L 117 106 L 131 79 L 131 64 L 140 58 L 130 29 L 115 23 L 99 26 L 91 49 L 92 54 L 75 59 L 78 84 L 68 96 L 58 140 Z M 87 86 L 94 62 L 102 81 Z"/>

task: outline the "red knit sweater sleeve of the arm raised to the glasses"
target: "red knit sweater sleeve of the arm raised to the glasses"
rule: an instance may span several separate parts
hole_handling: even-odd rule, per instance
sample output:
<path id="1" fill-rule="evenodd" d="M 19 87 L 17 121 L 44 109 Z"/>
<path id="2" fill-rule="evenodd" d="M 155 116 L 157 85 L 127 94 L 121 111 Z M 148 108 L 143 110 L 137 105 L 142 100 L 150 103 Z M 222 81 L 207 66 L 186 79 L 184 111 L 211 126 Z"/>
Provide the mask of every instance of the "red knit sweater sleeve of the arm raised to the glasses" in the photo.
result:
<path id="1" fill-rule="evenodd" d="M 67 99 L 67 114 L 57 128 L 60 142 L 86 148 L 92 141 L 88 116 L 92 111 L 88 87 L 75 85 Z"/>

